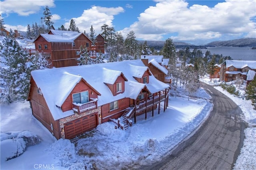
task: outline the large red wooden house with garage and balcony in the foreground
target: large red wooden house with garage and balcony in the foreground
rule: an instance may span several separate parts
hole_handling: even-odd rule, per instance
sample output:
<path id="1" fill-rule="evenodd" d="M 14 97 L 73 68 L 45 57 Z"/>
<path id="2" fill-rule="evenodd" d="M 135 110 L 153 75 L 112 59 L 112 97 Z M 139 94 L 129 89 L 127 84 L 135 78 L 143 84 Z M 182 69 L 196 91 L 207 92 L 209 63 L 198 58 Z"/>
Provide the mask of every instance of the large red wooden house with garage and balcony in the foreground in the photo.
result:
<path id="1" fill-rule="evenodd" d="M 169 85 L 158 81 L 141 60 L 62 67 L 31 72 L 32 114 L 57 139 L 71 139 L 123 117 L 124 124 L 164 102 Z M 151 115 L 151 114 L 150 114 Z M 126 126 L 126 125 L 124 125 Z"/>

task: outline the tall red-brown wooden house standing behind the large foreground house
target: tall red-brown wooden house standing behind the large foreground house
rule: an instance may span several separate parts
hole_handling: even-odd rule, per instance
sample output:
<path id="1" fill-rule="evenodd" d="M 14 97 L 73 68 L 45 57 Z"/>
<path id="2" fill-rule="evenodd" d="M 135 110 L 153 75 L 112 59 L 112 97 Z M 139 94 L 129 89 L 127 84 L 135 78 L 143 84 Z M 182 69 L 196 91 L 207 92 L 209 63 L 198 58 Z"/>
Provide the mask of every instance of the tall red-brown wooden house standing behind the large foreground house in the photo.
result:
<path id="1" fill-rule="evenodd" d="M 92 55 L 97 52 L 104 53 L 104 38 L 96 37 L 97 43 L 92 46 L 92 41 L 83 33 L 62 30 L 50 30 L 48 34 L 40 34 L 35 43 L 36 51 L 47 56 L 52 67 L 68 67 L 78 65 L 80 46 L 86 46 Z M 92 56 L 94 57 L 94 56 Z"/>

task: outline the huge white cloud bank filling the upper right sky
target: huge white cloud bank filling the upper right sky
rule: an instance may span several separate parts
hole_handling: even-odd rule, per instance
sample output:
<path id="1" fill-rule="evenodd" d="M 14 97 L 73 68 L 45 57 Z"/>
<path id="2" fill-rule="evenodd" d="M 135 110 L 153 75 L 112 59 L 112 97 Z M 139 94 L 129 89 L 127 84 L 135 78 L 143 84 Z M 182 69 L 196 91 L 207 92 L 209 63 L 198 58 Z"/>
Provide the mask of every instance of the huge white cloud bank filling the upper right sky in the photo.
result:
<path id="1" fill-rule="evenodd" d="M 199 41 L 245 35 L 255 38 L 256 24 L 250 18 L 255 16 L 255 0 L 226 0 L 213 8 L 202 5 L 188 7 L 183 0 L 158 1 L 138 17 L 129 28 L 136 38 L 159 40 L 162 36 L 175 34 L 174 41 Z M 232 38 L 230 38 L 232 39 Z"/>

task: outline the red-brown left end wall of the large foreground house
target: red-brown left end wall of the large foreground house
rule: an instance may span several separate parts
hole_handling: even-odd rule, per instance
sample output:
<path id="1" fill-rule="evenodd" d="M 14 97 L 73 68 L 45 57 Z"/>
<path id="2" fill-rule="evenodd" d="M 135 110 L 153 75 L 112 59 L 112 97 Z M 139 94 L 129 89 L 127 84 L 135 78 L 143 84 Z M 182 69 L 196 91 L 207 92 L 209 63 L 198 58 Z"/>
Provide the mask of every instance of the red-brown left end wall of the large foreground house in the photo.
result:
<path id="1" fill-rule="evenodd" d="M 60 127 L 58 121 L 54 121 L 52 114 L 46 104 L 44 97 L 37 93 L 38 87 L 33 79 L 31 79 L 31 88 L 28 100 L 30 100 L 32 115 L 38 119 L 54 136 L 59 139 L 60 136 Z M 51 127 L 53 125 L 53 130 Z"/>

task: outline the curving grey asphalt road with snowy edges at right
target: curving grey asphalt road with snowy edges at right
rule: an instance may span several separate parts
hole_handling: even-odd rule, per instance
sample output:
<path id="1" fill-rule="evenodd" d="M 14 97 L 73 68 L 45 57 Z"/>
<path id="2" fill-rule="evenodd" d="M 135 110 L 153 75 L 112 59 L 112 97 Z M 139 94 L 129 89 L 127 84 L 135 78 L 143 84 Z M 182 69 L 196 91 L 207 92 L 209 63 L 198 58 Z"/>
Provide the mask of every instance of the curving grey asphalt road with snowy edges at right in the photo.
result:
<path id="1" fill-rule="evenodd" d="M 201 83 L 214 103 L 208 119 L 188 140 L 161 162 L 141 169 L 232 169 L 243 146 L 244 128 L 240 108 L 212 86 Z"/>

